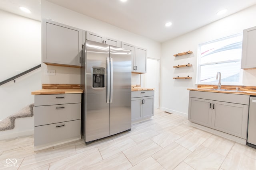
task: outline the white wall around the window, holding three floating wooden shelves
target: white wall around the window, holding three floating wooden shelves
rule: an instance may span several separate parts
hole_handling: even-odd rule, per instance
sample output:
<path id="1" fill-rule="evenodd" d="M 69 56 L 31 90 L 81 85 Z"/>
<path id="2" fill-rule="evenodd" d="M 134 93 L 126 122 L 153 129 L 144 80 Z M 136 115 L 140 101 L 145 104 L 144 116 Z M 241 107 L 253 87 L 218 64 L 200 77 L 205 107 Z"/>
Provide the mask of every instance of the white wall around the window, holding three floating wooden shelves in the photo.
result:
<path id="1" fill-rule="evenodd" d="M 240 33 L 243 29 L 256 26 L 256 5 L 215 21 L 190 33 L 162 43 L 160 108 L 172 113 L 188 114 L 189 91 L 196 87 L 198 44 Z M 174 57 L 174 54 L 193 51 L 191 55 Z M 192 67 L 173 68 L 178 64 Z M 176 76 L 191 76 L 192 79 L 172 79 Z M 256 86 L 256 69 L 244 70 L 244 86 Z"/>

